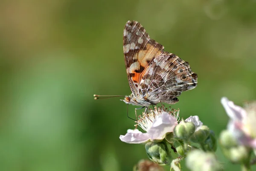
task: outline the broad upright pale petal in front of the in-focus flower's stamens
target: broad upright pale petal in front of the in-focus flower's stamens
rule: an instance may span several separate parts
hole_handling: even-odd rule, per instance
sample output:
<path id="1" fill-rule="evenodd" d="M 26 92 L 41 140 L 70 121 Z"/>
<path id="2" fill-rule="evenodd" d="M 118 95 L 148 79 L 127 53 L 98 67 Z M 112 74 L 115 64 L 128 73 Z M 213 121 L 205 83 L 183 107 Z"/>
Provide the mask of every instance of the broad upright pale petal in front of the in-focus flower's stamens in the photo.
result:
<path id="1" fill-rule="evenodd" d="M 178 124 L 177 119 L 167 112 L 163 112 L 153 122 L 148 130 L 148 136 L 151 140 L 164 139 L 166 133 L 173 132 Z"/>

